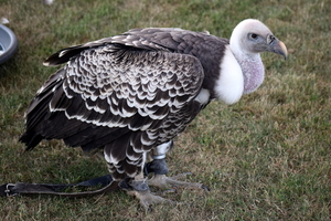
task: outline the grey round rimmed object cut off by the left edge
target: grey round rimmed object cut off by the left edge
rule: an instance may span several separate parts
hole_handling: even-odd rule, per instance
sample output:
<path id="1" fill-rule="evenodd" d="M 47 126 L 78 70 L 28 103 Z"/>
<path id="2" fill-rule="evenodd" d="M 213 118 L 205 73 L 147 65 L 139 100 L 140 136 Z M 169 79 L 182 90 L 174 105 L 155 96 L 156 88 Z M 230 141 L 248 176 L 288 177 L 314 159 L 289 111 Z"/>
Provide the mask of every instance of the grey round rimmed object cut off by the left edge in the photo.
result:
<path id="1" fill-rule="evenodd" d="M 15 34 L 0 24 L 0 64 L 12 57 L 18 51 L 19 43 Z"/>

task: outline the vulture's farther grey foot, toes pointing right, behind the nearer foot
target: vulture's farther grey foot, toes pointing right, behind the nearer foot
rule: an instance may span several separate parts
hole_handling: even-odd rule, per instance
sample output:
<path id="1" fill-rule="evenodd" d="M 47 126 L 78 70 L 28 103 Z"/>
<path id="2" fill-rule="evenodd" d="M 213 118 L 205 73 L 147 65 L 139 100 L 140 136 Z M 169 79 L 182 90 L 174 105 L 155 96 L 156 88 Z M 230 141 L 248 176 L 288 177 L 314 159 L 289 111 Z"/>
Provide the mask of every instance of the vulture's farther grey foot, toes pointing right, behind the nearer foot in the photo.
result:
<path id="1" fill-rule="evenodd" d="M 210 190 L 206 186 L 199 182 L 185 182 L 179 180 L 185 178 L 188 175 L 191 173 L 185 172 L 174 177 L 167 177 L 166 175 L 154 175 L 151 179 L 148 180 L 148 185 L 160 189 L 189 188 L 189 189 L 204 189 L 207 191 Z"/>

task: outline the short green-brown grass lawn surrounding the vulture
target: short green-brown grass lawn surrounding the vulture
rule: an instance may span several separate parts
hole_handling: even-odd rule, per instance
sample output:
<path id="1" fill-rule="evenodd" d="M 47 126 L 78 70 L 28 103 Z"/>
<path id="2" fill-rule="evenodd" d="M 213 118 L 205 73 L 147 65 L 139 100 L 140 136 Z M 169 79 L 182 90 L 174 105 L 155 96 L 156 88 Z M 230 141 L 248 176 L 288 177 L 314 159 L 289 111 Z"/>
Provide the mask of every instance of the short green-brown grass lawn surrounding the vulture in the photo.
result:
<path id="1" fill-rule="evenodd" d="M 264 21 L 289 59 L 263 54 L 266 81 L 235 105 L 213 102 L 177 139 L 171 175 L 191 171 L 211 192 L 179 190 L 145 213 L 124 192 L 0 199 L 2 220 L 331 220 L 331 8 L 328 1 L 0 0 L 20 42 L 0 66 L 0 183 L 75 182 L 107 173 L 103 160 L 61 141 L 31 152 L 18 141 L 24 110 L 56 69 L 53 52 L 132 28 L 180 27 L 228 38 L 245 18 Z"/>

